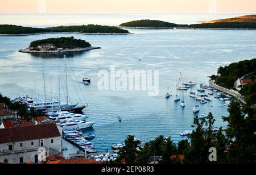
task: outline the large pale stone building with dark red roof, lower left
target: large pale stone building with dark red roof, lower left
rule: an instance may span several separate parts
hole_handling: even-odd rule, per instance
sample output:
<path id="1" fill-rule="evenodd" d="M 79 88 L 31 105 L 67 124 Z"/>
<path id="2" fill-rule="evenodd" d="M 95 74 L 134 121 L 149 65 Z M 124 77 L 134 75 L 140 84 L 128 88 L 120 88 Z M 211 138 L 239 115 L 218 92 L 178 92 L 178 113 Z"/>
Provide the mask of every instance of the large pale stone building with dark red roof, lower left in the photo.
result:
<path id="1" fill-rule="evenodd" d="M 0 129 L 0 162 L 39 163 L 61 153 L 61 134 L 56 124 Z"/>

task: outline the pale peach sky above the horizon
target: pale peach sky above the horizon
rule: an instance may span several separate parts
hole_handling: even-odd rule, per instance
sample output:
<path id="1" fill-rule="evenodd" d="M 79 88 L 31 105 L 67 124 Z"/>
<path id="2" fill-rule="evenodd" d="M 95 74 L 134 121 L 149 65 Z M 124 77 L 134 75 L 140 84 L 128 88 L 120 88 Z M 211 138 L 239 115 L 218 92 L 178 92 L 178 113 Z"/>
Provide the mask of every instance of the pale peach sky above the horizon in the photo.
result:
<path id="1" fill-rule="evenodd" d="M 255 13 L 256 0 L 1 0 L 0 12 Z"/>

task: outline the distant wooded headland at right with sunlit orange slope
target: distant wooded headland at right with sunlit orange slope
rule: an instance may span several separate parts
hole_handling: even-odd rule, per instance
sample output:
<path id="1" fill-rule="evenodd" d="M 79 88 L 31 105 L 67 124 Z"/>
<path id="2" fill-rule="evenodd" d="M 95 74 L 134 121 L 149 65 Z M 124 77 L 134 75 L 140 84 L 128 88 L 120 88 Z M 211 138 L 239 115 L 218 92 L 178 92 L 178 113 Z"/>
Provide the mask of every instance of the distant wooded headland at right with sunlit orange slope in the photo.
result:
<path id="1" fill-rule="evenodd" d="M 256 15 L 239 16 L 236 18 L 201 22 L 201 24 L 175 24 L 161 20 L 134 20 L 122 23 L 120 28 L 138 29 L 222 29 L 222 30 L 256 30 Z"/>

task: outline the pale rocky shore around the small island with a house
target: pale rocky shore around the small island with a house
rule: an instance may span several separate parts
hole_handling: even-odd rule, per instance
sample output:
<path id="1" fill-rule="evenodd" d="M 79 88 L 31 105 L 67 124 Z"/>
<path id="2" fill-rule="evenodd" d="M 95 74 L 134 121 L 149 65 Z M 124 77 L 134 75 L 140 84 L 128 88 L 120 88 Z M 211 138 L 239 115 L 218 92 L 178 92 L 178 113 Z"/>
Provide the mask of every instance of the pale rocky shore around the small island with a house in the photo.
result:
<path id="1" fill-rule="evenodd" d="M 31 51 L 30 48 L 20 49 L 20 53 L 67 53 L 67 52 L 82 52 L 82 51 L 90 51 L 94 49 L 101 49 L 101 47 L 86 47 L 86 48 L 75 48 L 75 49 L 64 49 L 57 51 Z"/>

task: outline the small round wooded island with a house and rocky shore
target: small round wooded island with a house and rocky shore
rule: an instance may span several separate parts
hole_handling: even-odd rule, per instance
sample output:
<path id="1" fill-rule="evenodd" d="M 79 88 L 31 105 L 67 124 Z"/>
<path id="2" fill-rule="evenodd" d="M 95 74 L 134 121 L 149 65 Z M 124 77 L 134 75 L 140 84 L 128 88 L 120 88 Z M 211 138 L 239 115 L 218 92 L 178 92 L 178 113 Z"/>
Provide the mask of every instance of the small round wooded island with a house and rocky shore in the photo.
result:
<path id="1" fill-rule="evenodd" d="M 36 40 L 30 43 L 30 47 L 21 49 L 23 53 L 60 53 L 60 52 L 81 52 L 92 49 L 100 49 L 100 47 L 92 47 L 85 40 L 75 39 L 71 37 L 48 38 L 44 40 Z"/>

